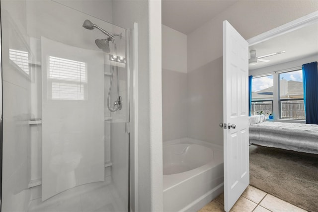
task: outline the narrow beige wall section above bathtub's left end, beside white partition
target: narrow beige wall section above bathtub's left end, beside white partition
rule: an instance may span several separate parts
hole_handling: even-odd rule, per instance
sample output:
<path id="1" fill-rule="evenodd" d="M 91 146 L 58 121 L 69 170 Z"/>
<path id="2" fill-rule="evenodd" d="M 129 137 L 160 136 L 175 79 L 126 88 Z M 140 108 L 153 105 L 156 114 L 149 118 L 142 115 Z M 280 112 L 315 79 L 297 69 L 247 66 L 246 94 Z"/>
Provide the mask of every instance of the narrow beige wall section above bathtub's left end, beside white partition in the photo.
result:
<path id="1" fill-rule="evenodd" d="M 187 137 L 187 37 L 162 25 L 162 138 Z"/>

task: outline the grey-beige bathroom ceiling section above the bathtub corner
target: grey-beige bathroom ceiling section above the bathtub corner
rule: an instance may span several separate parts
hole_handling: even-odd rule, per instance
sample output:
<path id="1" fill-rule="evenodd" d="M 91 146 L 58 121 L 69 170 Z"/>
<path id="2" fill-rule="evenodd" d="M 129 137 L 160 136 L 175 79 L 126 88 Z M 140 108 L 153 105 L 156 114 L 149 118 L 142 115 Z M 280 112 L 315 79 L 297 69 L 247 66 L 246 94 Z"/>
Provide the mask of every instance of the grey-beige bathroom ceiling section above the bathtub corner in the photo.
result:
<path id="1" fill-rule="evenodd" d="M 162 0 L 161 21 L 172 29 L 189 34 L 238 0 Z"/>

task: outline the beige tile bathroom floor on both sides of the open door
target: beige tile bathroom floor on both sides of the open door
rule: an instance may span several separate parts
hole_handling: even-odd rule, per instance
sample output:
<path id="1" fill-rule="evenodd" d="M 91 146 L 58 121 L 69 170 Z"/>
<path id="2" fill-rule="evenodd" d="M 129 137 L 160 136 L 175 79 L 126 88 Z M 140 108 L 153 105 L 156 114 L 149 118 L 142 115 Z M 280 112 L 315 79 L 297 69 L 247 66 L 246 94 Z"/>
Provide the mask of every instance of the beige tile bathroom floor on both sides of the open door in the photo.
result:
<path id="1" fill-rule="evenodd" d="M 212 200 L 199 212 L 224 212 L 224 194 Z M 306 212 L 290 203 L 248 186 L 231 212 Z"/>

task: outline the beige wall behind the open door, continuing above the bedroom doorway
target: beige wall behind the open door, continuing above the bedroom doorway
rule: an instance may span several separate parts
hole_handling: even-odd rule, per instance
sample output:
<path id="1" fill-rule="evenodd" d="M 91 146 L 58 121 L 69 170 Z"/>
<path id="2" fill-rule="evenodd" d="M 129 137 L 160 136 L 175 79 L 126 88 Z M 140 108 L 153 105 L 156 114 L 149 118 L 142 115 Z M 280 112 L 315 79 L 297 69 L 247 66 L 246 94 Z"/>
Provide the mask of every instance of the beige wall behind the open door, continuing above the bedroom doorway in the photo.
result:
<path id="1" fill-rule="evenodd" d="M 248 39 L 317 10 L 318 1 L 316 0 L 243 0 L 190 33 L 187 37 L 190 101 L 188 111 L 189 117 L 204 117 L 204 119 L 198 118 L 195 122 L 197 131 L 193 132 L 190 132 L 194 126 L 193 119 L 188 120 L 188 136 L 223 144 L 223 131 L 218 125 L 223 122 L 222 22 L 224 20 L 228 20 L 245 39 Z M 204 82 L 204 78 L 208 76 L 205 74 L 208 73 L 210 78 Z M 190 74 L 197 78 L 196 82 L 192 82 Z M 191 83 L 205 84 L 198 88 L 195 85 L 191 87 Z M 213 99 L 211 95 L 214 96 Z M 193 105 L 192 109 L 191 105 Z"/>

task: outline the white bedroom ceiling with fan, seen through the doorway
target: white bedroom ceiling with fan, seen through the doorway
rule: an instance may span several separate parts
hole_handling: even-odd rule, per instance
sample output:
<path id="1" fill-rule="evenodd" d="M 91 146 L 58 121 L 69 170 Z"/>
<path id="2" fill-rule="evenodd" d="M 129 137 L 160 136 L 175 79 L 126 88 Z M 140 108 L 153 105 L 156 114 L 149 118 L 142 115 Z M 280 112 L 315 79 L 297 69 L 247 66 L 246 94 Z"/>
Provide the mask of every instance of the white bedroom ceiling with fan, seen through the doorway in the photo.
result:
<path id="1" fill-rule="evenodd" d="M 262 58 L 270 60 L 270 62 L 258 62 L 255 66 L 249 66 L 249 70 L 255 70 L 317 55 L 318 23 L 294 30 L 259 44 L 255 44 L 249 47 L 249 51 L 250 50 L 256 50 L 256 57 L 280 51 L 286 52 Z"/>

